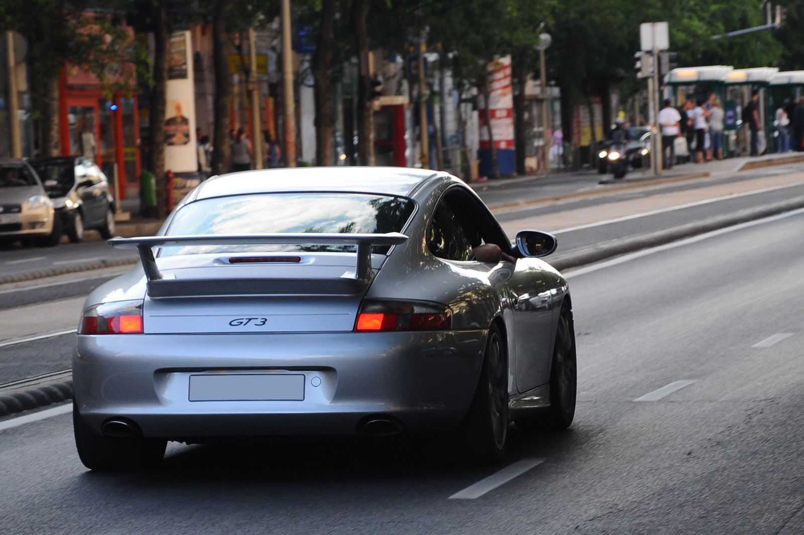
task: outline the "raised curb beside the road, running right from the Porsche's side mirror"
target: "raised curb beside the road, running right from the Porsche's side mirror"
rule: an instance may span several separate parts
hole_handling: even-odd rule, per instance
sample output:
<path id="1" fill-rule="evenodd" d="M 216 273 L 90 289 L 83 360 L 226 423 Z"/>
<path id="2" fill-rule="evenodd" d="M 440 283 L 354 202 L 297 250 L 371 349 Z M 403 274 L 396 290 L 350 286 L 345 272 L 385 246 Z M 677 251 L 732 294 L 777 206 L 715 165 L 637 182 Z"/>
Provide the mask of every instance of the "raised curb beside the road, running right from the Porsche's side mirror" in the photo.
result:
<path id="1" fill-rule="evenodd" d="M 709 233 L 720 228 L 731 227 L 736 224 L 776 216 L 784 212 L 791 212 L 804 208 L 804 195 L 773 204 L 763 204 L 754 208 L 745 208 L 739 212 L 714 216 L 708 219 L 693 221 L 671 228 L 663 228 L 652 233 L 643 233 L 636 236 L 617 238 L 604 241 L 597 245 L 583 247 L 568 253 L 556 255 L 546 259 L 556 270 L 568 270 L 593 262 L 608 260 L 621 254 L 634 253 L 640 249 L 648 249 L 658 245 L 665 245 L 684 238 Z"/>

